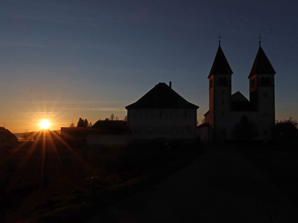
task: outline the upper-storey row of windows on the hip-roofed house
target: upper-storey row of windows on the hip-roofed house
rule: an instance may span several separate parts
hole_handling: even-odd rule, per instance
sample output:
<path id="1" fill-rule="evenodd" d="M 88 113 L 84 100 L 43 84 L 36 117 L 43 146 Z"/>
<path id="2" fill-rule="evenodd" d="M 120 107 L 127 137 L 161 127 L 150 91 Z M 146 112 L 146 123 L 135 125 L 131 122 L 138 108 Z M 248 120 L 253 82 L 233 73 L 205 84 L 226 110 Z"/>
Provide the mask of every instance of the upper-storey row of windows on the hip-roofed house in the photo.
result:
<path id="1" fill-rule="evenodd" d="M 148 111 L 133 111 L 132 112 L 132 117 L 134 119 L 141 119 L 141 118 L 148 118 L 148 119 L 152 119 L 152 118 L 161 118 L 161 119 L 165 119 L 168 116 L 170 116 L 170 118 L 191 118 L 192 116 L 192 112 L 189 110 L 185 110 L 185 111 L 165 111 L 165 110 L 160 110 L 160 111 L 152 111 L 152 110 L 148 110 Z"/>

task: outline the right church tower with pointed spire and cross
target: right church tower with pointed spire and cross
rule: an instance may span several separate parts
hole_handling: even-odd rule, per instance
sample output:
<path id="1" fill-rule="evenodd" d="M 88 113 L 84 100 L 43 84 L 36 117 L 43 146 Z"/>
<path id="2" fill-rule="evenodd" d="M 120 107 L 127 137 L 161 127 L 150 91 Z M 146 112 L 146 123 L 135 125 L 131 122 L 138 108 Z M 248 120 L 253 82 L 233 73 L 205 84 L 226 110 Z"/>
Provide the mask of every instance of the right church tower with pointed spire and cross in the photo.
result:
<path id="1" fill-rule="evenodd" d="M 259 37 L 260 38 L 260 37 Z M 254 59 L 249 79 L 249 100 L 258 111 L 258 129 L 260 137 L 269 135 L 270 127 L 275 124 L 274 74 L 259 41 L 259 50 Z"/>

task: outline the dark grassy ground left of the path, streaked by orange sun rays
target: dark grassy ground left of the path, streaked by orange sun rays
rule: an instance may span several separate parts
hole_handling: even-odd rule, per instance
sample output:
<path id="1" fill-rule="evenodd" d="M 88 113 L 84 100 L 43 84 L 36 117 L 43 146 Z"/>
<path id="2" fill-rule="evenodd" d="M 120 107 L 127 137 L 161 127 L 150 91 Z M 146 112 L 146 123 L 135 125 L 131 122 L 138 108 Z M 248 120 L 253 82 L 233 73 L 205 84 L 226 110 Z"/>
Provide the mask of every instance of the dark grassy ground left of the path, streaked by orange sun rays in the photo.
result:
<path id="1" fill-rule="evenodd" d="M 80 222 L 159 182 L 203 151 L 202 145 L 86 148 L 57 142 L 2 149 L 0 218 Z"/>

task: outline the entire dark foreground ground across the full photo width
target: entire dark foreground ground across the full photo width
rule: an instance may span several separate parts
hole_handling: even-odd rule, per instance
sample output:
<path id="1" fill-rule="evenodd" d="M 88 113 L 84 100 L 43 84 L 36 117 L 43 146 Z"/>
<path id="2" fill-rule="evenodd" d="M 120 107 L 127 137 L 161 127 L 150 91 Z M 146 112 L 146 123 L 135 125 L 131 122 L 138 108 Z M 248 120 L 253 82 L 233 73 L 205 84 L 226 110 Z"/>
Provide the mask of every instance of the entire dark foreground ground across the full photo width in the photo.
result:
<path id="1" fill-rule="evenodd" d="M 21 149 L 25 156 L 1 161 L 1 214 L 7 222 L 298 222 L 294 149 L 60 145 L 44 164 L 42 150 L 24 162 L 30 153 Z"/>

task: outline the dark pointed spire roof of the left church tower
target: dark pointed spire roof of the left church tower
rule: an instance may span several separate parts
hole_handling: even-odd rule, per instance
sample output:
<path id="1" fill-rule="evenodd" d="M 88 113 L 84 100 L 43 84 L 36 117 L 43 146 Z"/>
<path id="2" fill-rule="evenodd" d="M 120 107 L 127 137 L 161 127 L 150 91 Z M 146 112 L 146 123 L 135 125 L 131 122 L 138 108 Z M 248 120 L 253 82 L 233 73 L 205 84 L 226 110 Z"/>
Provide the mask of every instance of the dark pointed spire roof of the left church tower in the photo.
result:
<path id="1" fill-rule="evenodd" d="M 208 79 L 212 76 L 212 74 L 230 74 L 232 75 L 233 71 L 224 55 L 221 46 L 218 46 L 218 50 L 216 52 Z"/>

